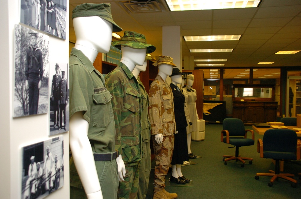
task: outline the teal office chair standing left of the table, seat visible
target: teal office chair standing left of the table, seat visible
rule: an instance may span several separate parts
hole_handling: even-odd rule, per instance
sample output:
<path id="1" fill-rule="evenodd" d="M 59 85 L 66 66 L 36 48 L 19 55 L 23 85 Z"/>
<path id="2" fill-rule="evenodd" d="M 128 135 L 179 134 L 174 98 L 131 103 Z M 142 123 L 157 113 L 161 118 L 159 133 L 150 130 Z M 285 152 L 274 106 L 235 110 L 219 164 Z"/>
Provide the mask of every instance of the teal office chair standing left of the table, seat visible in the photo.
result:
<path id="1" fill-rule="evenodd" d="M 247 138 L 247 132 L 252 133 L 252 139 Z M 227 165 L 227 162 L 230 160 L 242 162 L 241 167 L 244 167 L 244 160 L 249 160 L 249 164 L 252 164 L 253 158 L 240 157 L 240 155 L 238 154 L 239 147 L 254 145 L 254 132 L 253 130 L 245 130 L 243 121 L 237 118 L 224 119 L 223 130 L 221 133 L 221 142 L 234 145 L 235 147 L 235 156 L 223 155 L 223 161 L 225 165 Z"/>

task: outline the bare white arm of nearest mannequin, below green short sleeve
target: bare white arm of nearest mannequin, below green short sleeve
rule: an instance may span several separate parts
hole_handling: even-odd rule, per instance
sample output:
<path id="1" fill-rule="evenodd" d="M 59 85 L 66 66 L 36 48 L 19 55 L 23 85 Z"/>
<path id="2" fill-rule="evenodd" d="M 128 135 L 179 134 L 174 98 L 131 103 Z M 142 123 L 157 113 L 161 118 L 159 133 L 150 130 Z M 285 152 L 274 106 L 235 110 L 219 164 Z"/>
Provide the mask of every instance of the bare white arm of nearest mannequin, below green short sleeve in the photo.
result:
<path id="1" fill-rule="evenodd" d="M 93 152 L 87 136 L 89 123 L 83 118 L 82 112 L 76 112 L 71 116 L 69 124 L 70 148 L 87 197 L 102 199 Z"/>

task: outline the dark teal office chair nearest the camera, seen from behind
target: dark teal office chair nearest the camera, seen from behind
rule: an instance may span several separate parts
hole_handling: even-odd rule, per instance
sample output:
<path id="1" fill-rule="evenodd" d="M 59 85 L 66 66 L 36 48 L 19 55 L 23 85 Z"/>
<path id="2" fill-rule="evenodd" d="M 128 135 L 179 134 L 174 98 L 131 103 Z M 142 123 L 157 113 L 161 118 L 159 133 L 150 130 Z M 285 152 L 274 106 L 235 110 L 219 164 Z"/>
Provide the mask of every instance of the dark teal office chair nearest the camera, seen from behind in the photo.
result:
<path id="1" fill-rule="evenodd" d="M 268 186 L 273 186 L 277 178 L 289 180 L 292 187 L 296 187 L 297 181 L 294 180 L 294 174 L 280 173 L 280 160 L 299 160 L 300 159 L 300 140 L 297 140 L 297 134 L 290 129 L 269 129 L 265 131 L 262 140 L 257 141 L 257 152 L 260 158 L 272 158 L 275 160 L 275 171 L 269 170 L 269 173 L 256 173 L 255 179 L 259 176 L 272 176 Z M 288 177 L 290 176 L 290 177 Z"/>

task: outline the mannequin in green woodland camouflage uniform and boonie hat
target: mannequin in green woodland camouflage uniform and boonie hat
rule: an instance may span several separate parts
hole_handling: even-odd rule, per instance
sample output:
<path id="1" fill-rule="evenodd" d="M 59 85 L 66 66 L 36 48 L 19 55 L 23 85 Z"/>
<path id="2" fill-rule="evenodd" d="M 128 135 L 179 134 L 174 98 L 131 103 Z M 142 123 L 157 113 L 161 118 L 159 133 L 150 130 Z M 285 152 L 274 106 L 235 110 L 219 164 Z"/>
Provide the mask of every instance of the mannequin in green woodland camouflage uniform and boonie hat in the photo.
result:
<path id="1" fill-rule="evenodd" d="M 137 79 L 132 74 L 136 65 L 142 66 L 145 53 L 156 48 L 147 44 L 143 34 L 125 31 L 113 46 L 121 49 L 117 67 L 106 75 L 106 85 L 112 98 L 116 127 L 116 149 L 122 155 L 126 171 L 119 183 L 119 198 L 137 198 L 139 162 L 141 160 L 141 95 Z"/>

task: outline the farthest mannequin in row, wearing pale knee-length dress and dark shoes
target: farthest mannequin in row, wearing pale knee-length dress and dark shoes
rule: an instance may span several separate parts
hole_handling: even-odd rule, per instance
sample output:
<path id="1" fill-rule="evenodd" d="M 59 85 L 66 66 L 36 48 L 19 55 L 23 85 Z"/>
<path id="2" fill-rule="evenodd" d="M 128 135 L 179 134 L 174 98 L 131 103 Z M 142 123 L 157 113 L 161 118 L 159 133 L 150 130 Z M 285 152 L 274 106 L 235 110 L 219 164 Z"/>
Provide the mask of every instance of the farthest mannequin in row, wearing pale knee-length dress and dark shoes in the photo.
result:
<path id="1" fill-rule="evenodd" d="M 188 155 L 190 159 L 197 158 L 196 155 L 194 155 L 191 152 L 191 135 L 192 131 L 197 132 L 197 120 L 199 119 L 199 116 L 197 115 L 197 107 L 195 100 L 197 99 L 197 93 L 196 90 L 192 88 L 193 82 L 194 82 L 194 75 L 187 75 L 187 85 L 183 89 L 188 93 L 188 111 L 189 111 L 189 119 L 190 122 L 192 122 L 192 125 L 190 126 L 190 133 L 187 134 L 187 145 L 188 145 Z"/>

